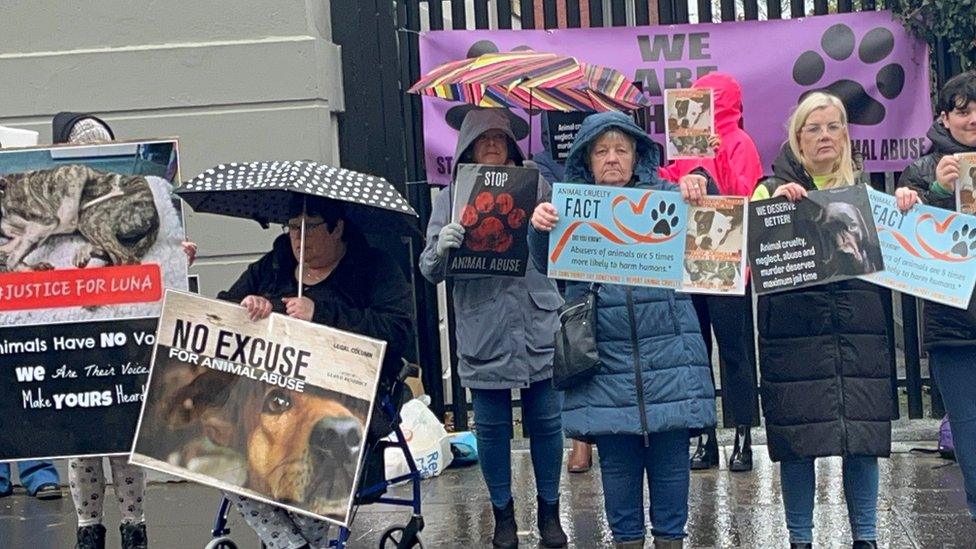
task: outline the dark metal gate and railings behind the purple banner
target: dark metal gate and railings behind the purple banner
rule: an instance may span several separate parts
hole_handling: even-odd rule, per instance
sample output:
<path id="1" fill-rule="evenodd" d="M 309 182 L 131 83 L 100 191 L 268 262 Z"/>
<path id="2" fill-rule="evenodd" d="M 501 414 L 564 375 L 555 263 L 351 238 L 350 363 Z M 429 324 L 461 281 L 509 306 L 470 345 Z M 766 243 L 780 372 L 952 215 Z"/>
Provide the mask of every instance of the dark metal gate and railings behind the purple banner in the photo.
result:
<path id="1" fill-rule="evenodd" d="M 333 39 L 343 49 L 346 113 L 340 117 L 343 165 L 380 172 L 405 192 L 426 226 L 430 192 L 423 165 L 423 126 L 420 99 L 404 91 L 420 77 L 419 33 L 449 29 L 556 29 L 712 23 L 722 21 L 797 18 L 827 13 L 870 11 L 891 7 L 886 1 L 862 0 L 333 0 Z M 694 15 L 695 17 L 692 17 Z M 695 19 L 695 20 L 692 20 Z M 948 48 L 932 52 L 937 85 L 959 72 Z M 376 71 L 379 69 L 379 72 Z M 399 110 L 397 110 L 399 109 Z M 398 116 L 398 114 L 400 116 Z M 897 173 L 872 174 L 879 190 L 892 191 Z M 440 377 L 437 292 L 416 270 L 423 243 L 408 243 L 404 259 L 412 261 L 417 312 L 418 361 L 435 413 L 447 411 Z M 941 398 L 923 375 L 919 345 L 919 306 L 910 296 L 885 292 L 888 321 L 895 335 L 893 379 L 907 394 L 910 418 L 923 416 L 923 395 L 931 390 L 932 415 L 943 413 Z M 450 296 L 450 291 L 448 292 Z M 448 311 L 451 307 L 448 306 Z M 896 318 L 901 319 L 896 322 Z M 453 349 L 453 318 L 449 315 Z M 897 348 L 897 349 L 896 349 Z M 457 358 L 451 356 L 451 403 L 454 427 L 468 427 L 469 403 L 458 382 Z M 903 371 L 903 375 L 898 375 Z M 721 391 L 718 391 L 721 396 Z"/>

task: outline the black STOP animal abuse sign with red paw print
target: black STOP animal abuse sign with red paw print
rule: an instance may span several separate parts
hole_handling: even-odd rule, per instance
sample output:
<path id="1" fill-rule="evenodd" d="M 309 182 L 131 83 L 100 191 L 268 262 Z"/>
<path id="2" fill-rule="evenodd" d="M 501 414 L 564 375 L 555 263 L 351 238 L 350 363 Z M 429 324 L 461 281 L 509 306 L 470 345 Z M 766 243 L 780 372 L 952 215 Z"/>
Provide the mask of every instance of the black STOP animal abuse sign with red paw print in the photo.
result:
<path id="1" fill-rule="evenodd" d="M 452 187 L 451 219 L 465 233 L 461 247 L 451 251 L 448 275 L 525 276 L 539 170 L 461 164 Z"/>

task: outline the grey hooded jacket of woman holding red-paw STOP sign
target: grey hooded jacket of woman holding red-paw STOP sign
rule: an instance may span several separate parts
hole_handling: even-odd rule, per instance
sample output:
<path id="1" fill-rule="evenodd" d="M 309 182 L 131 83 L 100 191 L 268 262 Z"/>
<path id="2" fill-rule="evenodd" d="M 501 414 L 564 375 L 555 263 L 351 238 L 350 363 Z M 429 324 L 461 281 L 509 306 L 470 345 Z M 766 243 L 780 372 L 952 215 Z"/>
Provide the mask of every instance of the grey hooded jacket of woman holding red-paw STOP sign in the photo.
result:
<path id="1" fill-rule="evenodd" d="M 501 109 L 471 111 L 461 125 L 455 165 L 482 133 L 502 130 L 509 135 L 513 160 L 524 156 L 515 145 L 508 118 Z M 539 196 L 549 184 L 539 181 Z M 452 186 L 434 200 L 427 225 L 427 246 L 420 254 L 420 272 L 432 283 L 444 280 L 447 261 L 437 255 L 437 239 L 451 219 Z M 454 278 L 458 375 L 472 389 L 510 389 L 552 377 L 552 355 L 558 310 L 563 304 L 556 283 L 532 262 L 525 277 L 464 276 Z"/>

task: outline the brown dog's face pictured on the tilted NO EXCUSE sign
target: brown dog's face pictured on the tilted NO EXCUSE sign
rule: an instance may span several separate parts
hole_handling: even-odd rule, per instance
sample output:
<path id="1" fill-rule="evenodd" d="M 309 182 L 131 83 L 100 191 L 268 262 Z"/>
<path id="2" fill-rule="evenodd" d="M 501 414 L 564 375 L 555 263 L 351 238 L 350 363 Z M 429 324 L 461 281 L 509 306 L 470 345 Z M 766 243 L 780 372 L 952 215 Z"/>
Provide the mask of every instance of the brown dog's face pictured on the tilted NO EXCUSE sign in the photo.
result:
<path id="1" fill-rule="evenodd" d="M 213 444 L 239 452 L 247 489 L 319 514 L 345 512 L 367 410 L 306 387 L 285 390 L 207 371 L 173 398 L 169 423 L 197 422 Z"/>

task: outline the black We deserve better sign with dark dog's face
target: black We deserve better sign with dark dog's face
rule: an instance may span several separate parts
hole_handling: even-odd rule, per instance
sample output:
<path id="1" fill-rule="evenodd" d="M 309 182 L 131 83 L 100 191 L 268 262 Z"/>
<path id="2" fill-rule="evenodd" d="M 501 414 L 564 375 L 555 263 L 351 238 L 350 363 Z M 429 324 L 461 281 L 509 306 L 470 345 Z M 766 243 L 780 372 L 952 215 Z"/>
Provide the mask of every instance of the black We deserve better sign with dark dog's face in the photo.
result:
<path id="1" fill-rule="evenodd" d="M 749 204 L 749 265 L 756 293 L 826 284 L 884 270 L 867 189 L 811 191 Z"/>

